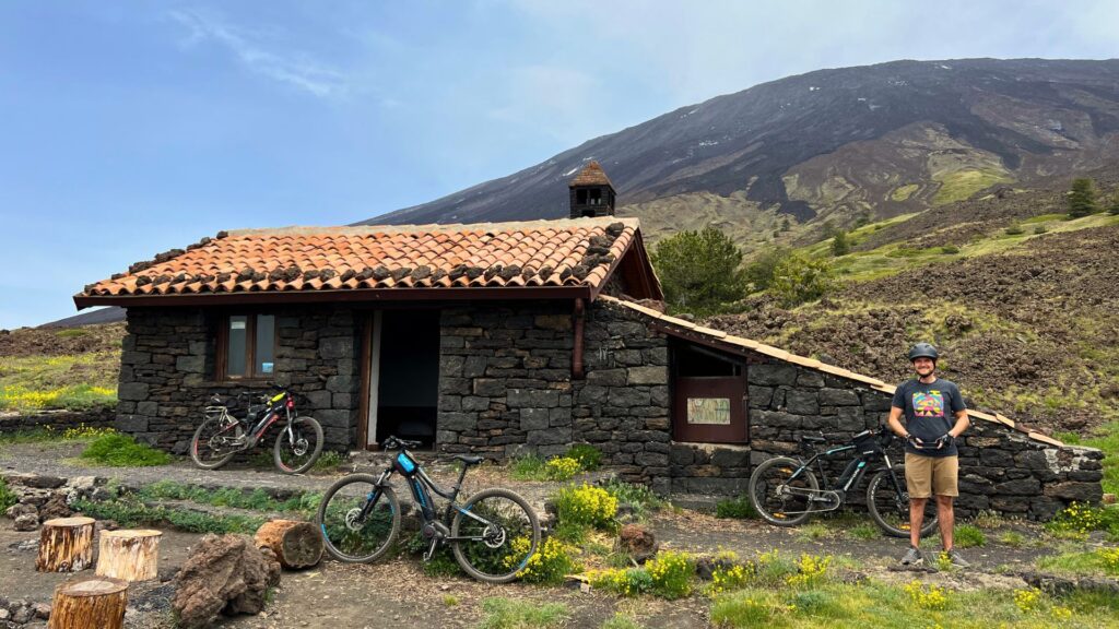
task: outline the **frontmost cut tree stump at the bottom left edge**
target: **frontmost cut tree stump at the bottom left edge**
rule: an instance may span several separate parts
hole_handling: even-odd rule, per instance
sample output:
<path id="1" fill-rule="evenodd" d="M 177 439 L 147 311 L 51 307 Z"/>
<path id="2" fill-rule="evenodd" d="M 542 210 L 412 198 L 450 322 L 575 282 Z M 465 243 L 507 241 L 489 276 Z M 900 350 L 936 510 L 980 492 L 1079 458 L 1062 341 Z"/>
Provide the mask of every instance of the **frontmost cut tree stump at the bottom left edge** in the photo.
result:
<path id="1" fill-rule="evenodd" d="M 121 629 L 129 584 L 120 579 L 95 576 L 67 581 L 55 588 L 48 629 Z"/>

